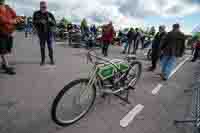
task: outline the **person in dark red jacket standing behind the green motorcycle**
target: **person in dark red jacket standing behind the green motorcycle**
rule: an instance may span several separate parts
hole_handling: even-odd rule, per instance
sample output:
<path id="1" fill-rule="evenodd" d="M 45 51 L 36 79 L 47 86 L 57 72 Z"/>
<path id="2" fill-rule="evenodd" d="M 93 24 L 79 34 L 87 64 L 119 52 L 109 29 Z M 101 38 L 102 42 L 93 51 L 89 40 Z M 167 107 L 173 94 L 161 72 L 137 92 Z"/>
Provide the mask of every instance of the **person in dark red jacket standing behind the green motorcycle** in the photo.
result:
<path id="1" fill-rule="evenodd" d="M 110 22 L 108 25 L 105 25 L 103 27 L 103 35 L 102 35 L 102 41 L 103 41 L 103 46 L 102 46 L 102 54 L 106 57 L 108 56 L 108 48 L 109 45 L 112 43 L 113 38 L 115 36 L 115 30 L 112 25 L 112 22 Z"/>

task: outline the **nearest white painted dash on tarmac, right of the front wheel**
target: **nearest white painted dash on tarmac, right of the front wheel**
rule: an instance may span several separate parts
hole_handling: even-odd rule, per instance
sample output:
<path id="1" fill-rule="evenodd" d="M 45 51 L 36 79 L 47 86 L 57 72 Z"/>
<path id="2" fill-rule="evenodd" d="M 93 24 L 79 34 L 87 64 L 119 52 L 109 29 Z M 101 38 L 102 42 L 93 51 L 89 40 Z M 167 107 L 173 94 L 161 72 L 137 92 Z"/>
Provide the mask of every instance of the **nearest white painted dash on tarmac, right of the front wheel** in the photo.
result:
<path id="1" fill-rule="evenodd" d="M 121 127 L 127 127 L 144 108 L 144 105 L 138 104 L 123 119 L 120 120 Z"/>

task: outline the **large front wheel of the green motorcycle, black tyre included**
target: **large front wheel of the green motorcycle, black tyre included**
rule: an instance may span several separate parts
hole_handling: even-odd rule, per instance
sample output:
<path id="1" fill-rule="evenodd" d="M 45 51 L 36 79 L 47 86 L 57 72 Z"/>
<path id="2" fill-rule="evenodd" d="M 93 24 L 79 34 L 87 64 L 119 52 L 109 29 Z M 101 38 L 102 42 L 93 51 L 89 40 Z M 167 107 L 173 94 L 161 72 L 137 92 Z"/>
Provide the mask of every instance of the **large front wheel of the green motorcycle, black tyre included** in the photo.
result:
<path id="1" fill-rule="evenodd" d="M 56 96 L 52 104 L 52 120 L 60 126 L 71 125 L 84 117 L 96 98 L 95 87 L 88 86 L 88 79 L 70 82 Z"/>

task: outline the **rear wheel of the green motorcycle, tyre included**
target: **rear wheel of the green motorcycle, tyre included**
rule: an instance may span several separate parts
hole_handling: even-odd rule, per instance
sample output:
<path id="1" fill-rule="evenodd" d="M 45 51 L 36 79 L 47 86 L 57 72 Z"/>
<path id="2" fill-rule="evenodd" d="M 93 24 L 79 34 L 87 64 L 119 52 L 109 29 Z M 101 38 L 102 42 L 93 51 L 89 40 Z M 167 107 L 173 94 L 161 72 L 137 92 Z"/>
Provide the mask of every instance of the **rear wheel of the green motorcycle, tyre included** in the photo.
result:
<path id="1" fill-rule="evenodd" d="M 142 73 L 142 64 L 138 61 L 132 62 L 126 76 L 127 79 L 126 83 L 128 83 L 128 87 L 134 88 L 134 86 L 140 79 L 141 73 Z"/>

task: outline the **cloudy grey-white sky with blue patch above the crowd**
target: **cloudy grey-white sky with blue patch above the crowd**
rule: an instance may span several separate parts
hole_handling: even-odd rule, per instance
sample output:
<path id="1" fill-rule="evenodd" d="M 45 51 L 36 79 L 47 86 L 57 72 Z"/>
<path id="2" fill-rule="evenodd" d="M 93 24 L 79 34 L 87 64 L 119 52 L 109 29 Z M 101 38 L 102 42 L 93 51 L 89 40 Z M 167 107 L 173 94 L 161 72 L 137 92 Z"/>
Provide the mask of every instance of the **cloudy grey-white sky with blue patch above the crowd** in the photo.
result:
<path id="1" fill-rule="evenodd" d="M 40 0 L 7 0 L 19 15 L 32 15 Z M 168 29 L 179 22 L 189 33 L 200 22 L 200 0 L 46 0 L 57 19 L 63 16 L 75 23 L 87 18 L 102 24 L 112 20 L 118 28 L 158 26 Z"/>

